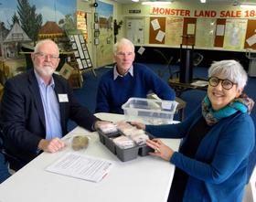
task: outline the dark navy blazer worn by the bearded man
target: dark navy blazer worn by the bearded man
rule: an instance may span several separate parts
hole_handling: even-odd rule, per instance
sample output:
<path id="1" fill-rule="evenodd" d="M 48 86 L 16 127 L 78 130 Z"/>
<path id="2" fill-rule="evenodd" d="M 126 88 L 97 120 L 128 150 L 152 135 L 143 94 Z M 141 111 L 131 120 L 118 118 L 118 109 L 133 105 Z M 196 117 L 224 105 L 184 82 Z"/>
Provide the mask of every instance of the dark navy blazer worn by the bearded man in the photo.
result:
<path id="1" fill-rule="evenodd" d="M 62 134 L 67 132 L 67 122 L 72 120 L 91 130 L 97 118 L 81 106 L 73 96 L 68 81 L 53 74 L 55 92 L 67 94 L 68 102 L 59 102 Z M 46 122 L 43 104 L 34 69 L 5 82 L 1 107 L 1 124 L 5 148 L 24 162 L 37 156 L 37 145 L 46 137 Z"/>

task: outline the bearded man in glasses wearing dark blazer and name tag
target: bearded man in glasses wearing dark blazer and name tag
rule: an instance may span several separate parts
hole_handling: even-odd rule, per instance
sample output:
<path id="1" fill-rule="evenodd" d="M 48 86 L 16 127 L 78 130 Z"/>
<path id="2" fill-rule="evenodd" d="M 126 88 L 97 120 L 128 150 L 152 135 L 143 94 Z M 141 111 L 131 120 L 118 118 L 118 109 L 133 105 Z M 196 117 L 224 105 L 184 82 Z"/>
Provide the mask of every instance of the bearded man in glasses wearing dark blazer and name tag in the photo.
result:
<path id="1" fill-rule="evenodd" d="M 39 41 L 31 54 L 34 69 L 7 80 L 1 107 L 4 146 L 20 159 L 19 169 L 40 152 L 55 153 L 72 120 L 93 130 L 98 119 L 73 96 L 68 81 L 54 74 L 59 48 L 50 39 Z"/>

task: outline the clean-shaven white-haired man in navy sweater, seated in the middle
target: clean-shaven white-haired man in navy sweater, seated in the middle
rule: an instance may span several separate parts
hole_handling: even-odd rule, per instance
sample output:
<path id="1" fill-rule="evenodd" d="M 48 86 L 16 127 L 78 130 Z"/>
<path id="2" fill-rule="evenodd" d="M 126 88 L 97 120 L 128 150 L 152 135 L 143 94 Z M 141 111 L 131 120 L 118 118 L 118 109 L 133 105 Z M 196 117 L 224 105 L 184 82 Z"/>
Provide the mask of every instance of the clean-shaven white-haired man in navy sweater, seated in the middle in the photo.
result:
<path id="1" fill-rule="evenodd" d="M 175 91 L 143 64 L 133 63 L 133 43 L 122 38 L 113 47 L 116 65 L 102 77 L 97 93 L 96 112 L 123 113 L 129 98 L 146 98 L 153 91 L 160 99 L 175 100 Z"/>

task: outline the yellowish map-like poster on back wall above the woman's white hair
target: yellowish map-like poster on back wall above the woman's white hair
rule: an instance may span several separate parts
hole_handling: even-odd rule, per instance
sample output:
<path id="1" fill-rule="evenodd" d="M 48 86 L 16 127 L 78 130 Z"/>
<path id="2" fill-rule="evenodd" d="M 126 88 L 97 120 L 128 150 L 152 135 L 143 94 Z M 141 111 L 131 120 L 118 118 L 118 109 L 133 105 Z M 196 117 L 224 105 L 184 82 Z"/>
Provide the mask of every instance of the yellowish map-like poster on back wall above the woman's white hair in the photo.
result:
<path id="1" fill-rule="evenodd" d="M 247 19 L 227 19 L 225 28 L 225 49 L 240 50 L 244 46 Z"/>

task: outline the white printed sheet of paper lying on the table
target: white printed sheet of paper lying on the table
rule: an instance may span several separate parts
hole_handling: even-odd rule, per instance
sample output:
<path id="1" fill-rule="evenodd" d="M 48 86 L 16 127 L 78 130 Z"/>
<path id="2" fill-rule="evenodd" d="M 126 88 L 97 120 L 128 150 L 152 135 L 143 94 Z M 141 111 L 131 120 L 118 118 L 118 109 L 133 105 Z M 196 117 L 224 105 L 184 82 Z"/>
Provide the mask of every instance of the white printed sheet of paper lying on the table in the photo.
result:
<path id="1" fill-rule="evenodd" d="M 63 155 L 57 162 L 49 165 L 48 172 L 75 178 L 100 182 L 112 168 L 112 162 L 94 159 L 77 153 Z"/>

